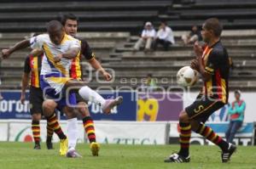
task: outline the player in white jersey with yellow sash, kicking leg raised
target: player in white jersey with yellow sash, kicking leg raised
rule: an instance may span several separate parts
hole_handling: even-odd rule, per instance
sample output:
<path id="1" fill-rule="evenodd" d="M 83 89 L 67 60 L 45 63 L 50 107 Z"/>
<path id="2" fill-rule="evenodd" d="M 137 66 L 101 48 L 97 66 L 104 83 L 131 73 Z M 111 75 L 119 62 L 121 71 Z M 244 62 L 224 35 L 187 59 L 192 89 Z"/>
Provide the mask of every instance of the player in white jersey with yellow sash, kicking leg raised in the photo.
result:
<path id="1" fill-rule="evenodd" d="M 106 114 L 110 113 L 114 106 L 122 103 L 122 97 L 103 99 L 101 95 L 87 87 L 86 82 L 70 77 L 69 70 L 72 59 L 79 54 L 81 48 L 79 40 L 68 36 L 57 20 L 49 21 L 47 32 L 48 34 L 38 35 L 30 40 L 17 42 L 15 46 L 9 49 L 3 49 L 2 57 L 7 59 L 10 54 L 28 46 L 44 50 L 40 84 L 44 95 L 49 98 L 43 104 L 44 115 L 49 121 L 57 122 L 54 114 L 57 107 L 59 110 L 63 110 L 65 114 L 75 115 L 73 106 L 76 105 L 76 98 L 73 92 L 77 91 L 83 99 L 99 104 Z M 58 134 L 57 129 L 59 127 L 55 126 L 54 131 Z M 63 142 L 60 144 L 61 155 L 65 155 L 67 153 L 67 138 L 62 140 Z M 67 156 L 78 157 L 79 155 L 73 149 L 72 153 L 67 154 Z"/>

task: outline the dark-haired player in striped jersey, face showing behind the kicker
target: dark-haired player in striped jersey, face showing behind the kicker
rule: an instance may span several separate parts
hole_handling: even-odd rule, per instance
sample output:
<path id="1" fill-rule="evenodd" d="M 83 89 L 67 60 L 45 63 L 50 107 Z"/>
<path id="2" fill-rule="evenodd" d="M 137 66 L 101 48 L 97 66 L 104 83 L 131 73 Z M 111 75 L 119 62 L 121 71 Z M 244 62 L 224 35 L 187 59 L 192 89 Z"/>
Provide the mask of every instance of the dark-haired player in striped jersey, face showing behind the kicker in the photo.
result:
<path id="1" fill-rule="evenodd" d="M 64 26 L 65 32 L 67 35 L 72 37 L 76 37 L 79 25 L 79 19 L 74 14 L 64 14 L 61 18 L 61 24 Z M 78 37 L 76 37 L 78 38 Z M 102 73 L 102 76 L 106 81 L 111 79 L 111 76 L 102 68 L 102 65 L 96 60 L 95 54 L 91 51 L 91 48 L 84 39 L 79 39 L 81 41 L 81 52 L 80 55 L 73 59 L 73 63 L 71 65 L 71 76 L 74 79 L 82 80 L 82 70 L 80 61 L 82 60 L 82 56 L 90 63 L 90 65 L 95 69 L 99 70 Z M 84 131 L 87 133 L 87 137 L 90 141 L 90 149 L 91 153 L 94 156 L 98 155 L 99 144 L 96 143 L 96 134 L 95 127 L 92 118 L 90 117 L 90 112 L 87 108 L 86 101 L 79 96 L 79 93 L 76 93 L 76 99 L 78 103 L 79 114 L 82 116 Z M 73 119 L 74 126 L 77 123 L 76 118 Z M 68 128 L 67 128 L 68 129 Z M 70 139 L 69 139 L 70 140 Z M 74 139 L 76 140 L 76 139 Z"/>

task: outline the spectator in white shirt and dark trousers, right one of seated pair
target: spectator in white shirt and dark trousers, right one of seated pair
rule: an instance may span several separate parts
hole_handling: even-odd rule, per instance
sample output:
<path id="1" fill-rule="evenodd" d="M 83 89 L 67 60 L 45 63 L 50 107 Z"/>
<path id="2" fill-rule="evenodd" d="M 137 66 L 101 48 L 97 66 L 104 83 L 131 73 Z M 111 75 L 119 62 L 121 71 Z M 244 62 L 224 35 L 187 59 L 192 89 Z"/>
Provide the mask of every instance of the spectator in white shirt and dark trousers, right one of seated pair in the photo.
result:
<path id="1" fill-rule="evenodd" d="M 164 47 L 165 51 L 169 49 L 170 45 L 175 43 L 172 29 L 164 21 L 161 22 L 159 31 L 157 31 L 156 37 L 154 38 L 154 50 L 159 43 Z"/>

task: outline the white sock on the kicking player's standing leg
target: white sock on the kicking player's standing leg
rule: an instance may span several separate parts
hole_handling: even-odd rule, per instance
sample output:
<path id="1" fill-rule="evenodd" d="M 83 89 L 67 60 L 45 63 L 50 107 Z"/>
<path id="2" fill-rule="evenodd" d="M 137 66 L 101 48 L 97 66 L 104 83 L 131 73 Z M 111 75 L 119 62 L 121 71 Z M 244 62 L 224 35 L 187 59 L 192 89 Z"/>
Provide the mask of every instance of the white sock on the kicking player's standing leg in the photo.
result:
<path id="1" fill-rule="evenodd" d="M 77 118 L 67 119 L 67 138 L 68 149 L 75 149 L 78 139 L 78 120 Z"/>

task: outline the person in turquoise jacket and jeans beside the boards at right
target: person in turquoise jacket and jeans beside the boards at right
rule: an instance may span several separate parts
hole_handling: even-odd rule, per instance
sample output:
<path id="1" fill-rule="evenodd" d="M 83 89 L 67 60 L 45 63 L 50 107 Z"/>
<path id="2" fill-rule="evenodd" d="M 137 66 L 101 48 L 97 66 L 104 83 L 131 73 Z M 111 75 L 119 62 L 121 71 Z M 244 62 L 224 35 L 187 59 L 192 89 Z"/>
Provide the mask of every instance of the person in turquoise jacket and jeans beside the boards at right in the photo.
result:
<path id="1" fill-rule="evenodd" d="M 233 138 L 235 137 L 236 132 L 242 125 L 242 121 L 244 118 L 244 111 L 246 109 L 245 102 L 240 99 L 241 92 L 239 90 L 235 91 L 236 100 L 229 107 L 229 115 L 230 115 L 230 126 L 226 132 L 226 140 L 228 143 L 232 143 Z"/>

